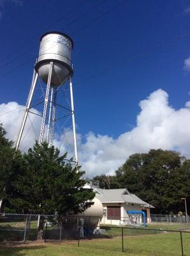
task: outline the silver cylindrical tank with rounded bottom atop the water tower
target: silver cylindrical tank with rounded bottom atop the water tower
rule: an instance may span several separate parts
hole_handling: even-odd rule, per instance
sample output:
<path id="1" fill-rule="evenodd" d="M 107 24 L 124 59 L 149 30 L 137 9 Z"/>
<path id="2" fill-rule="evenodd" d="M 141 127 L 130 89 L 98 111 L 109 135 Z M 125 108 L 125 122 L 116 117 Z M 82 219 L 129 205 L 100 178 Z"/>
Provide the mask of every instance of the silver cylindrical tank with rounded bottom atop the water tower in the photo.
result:
<path id="1" fill-rule="evenodd" d="M 53 61 L 51 85 L 59 86 L 73 75 L 71 50 L 73 40 L 66 34 L 53 31 L 41 36 L 40 52 L 35 69 L 47 84 L 50 62 Z"/>

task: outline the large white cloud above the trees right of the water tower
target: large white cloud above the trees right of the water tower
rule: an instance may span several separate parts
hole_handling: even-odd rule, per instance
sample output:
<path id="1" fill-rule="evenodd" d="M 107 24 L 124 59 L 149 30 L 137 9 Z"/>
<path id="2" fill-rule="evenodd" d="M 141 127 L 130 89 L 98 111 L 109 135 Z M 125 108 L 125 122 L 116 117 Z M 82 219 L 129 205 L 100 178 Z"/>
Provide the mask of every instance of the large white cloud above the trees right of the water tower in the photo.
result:
<path id="1" fill-rule="evenodd" d="M 150 148 L 175 149 L 189 156 L 189 103 L 188 108 L 175 110 L 168 104 L 168 94 L 157 90 L 139 105 L 135 128 L 116 140 L 87 134 L 87 141 L 79 147 L 79 156 L 89 175 L 113 172 L 131 154 Z"/>

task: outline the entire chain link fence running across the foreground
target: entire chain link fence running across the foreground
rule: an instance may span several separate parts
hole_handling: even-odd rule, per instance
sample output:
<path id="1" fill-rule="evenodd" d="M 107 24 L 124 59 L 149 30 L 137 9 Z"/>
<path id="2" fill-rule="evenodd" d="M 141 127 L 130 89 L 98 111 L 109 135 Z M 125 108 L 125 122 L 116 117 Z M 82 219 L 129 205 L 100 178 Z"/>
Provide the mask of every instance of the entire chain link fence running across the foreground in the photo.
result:
<path id="1" fill-rule="evenodd" d="M 42 238 L 46 243 L 71 241 L 89 250 L 94 248 L 136 255 L 190 256 L 189 231 L 99 225 L 97 217 L 84 216 L 1 214 L 0 244 L 35 241 L 40 220 L 44 223 Z"/>

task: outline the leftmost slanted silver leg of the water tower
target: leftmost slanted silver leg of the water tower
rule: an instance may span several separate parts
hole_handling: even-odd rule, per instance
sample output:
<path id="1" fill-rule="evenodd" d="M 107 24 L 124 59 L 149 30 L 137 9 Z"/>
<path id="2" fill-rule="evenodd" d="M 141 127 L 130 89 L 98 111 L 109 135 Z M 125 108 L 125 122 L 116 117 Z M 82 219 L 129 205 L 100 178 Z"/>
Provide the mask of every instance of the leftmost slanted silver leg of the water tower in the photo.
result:
<path id="1" fill-rule="evenodd" d="M 28 98 L 27 98 L 26 110 L 25 110 L 25 113 L 24 113 L 24 116 L 23 116 L 23 119 L 22 119 L 22 124 L 20 126 L 20 131 L 19 131 L 18 138 L 17 138 L 16 150 L 18 149 L 18 147 L 20 145 L 20 140 L 22 138 L 24 127 L 25 127 L 25 124 L 26 124 L 27 115 L 29 113 L 29 109 L 31 108 L 31 101 L 33 99 L 33 94 L 34 94 L 34 90 L 35 90 L 35 87 L 36 87 L 37 78 L 38 78 L 38 73 L 36 73 L 36 71 L 34 70 L 33 81 L 32 81 L 32 84 L 31 84 L 31 90 L 30 90 Z"/>

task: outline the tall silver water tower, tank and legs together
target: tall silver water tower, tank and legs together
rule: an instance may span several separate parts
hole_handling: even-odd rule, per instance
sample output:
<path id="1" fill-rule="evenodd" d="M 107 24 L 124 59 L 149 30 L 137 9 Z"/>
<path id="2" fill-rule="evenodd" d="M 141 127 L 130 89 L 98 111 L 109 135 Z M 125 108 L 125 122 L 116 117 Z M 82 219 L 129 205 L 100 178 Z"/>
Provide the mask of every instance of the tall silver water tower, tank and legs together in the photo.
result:
<path id="1" fill-rule="evenodd" d="M 73 65 L 71 63 L 72 49 L 73 40 L 64 33 L 52 31 L 41 36 L 38 60 L 34 65 L 33 81 L 26 103 L 26 111 L 24 113 L 17 138 L 17 149 L 23 136 L 28 114 L 31 112 L 31 102 L 34 97 L 37 79 L 40 78 L 41 81 L 46 84 L 43 99 L 43 109 L 41 109 L 41 129 L 38 141 L 39 143 L 42 143 L 43 140 L 46 140 L 47 143 L 50 143 L 50 145 L 52 145 L 54 141 L 55 121 L 59 119 L 55 118 L 56 108 L 58 105 L 60 106 L 60 104 L 57 104 L 57 92 L 59 92 L 59 90 L 65 86 L 65 83 L 69 81 L 69 97 L 71 108 L 68 109 L 68 111 L 70 111 L 72 117 L 74 157 L 77 163 L 78 159 L 75 133 L 75 114 L 73 106 L 73 88 L 71 81 L 71 77 L 73 76 Z M 45 127 L 47 132 L 45 132 Z M 46 138 L 44 138 L 45 136 Z"/>

